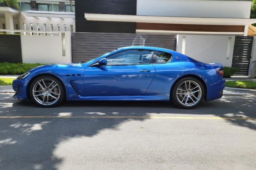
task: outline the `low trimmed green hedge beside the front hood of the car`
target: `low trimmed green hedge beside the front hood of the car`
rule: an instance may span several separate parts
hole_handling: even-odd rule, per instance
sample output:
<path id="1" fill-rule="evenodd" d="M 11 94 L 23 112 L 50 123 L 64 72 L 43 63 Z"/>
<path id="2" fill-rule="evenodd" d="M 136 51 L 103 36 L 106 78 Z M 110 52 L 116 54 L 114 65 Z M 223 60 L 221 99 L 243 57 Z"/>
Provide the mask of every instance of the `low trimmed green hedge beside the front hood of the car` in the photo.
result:
<path id="1" fill-rule="evenodd" d="M 29 63 L 0 63 L 0 75 L 19 75 L 31 68 L 46 64 L 29 64 Z"/>

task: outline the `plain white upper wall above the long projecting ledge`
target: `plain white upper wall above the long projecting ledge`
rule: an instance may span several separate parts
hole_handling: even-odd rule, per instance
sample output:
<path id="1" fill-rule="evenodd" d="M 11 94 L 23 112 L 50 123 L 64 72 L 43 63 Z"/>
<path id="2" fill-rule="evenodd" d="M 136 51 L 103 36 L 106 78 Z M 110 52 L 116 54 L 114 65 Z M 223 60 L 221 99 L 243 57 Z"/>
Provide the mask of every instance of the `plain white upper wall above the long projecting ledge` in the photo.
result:
<path id="1" fill-rule="evenodd" d="M 137 0 L 137 15 L 250 18 L 251 1 Z"/>

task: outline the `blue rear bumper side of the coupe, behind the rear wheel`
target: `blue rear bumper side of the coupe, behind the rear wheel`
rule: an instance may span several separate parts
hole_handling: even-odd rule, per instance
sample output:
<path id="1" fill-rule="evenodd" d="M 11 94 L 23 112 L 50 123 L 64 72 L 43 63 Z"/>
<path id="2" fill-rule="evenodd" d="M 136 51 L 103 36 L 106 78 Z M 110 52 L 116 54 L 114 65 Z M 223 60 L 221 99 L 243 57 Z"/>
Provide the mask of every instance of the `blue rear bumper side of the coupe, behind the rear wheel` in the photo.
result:
<path id="1" fill-rule="evenodd" d="M 207 97 L 205 101 L 211 101 L 221 98 L 223 89 L 225 88 L 225 80 L 218 80 L 210 85 L 207 85 Z"/>

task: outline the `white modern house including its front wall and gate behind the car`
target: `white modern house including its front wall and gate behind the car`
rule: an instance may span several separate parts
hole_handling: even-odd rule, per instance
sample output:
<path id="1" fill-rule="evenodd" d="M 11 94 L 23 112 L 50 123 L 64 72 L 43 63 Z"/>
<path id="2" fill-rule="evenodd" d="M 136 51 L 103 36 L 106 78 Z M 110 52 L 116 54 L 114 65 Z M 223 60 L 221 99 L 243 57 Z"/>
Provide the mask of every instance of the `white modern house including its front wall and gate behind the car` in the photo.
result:
<path id="1" fill-rule="evenodd" d="M 22 12 L 0 7 L 0 33 L 17 30 L 22 34 L 22 61 L 27 63 L 86 61 L 137 42 L 176 50 L 205 63 L 236 67 L 238 76 L 250 76 L 252 61 L 256 60 L 255 38 L 247 36 L 248 26 L 256 23 L 250 19 L 251 0 L 74 3 L 71 8 L 70 0 L 20 0 Z"/>

